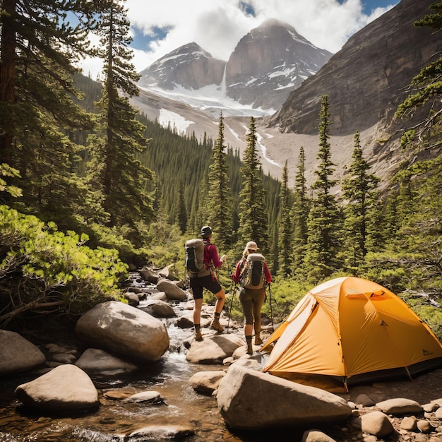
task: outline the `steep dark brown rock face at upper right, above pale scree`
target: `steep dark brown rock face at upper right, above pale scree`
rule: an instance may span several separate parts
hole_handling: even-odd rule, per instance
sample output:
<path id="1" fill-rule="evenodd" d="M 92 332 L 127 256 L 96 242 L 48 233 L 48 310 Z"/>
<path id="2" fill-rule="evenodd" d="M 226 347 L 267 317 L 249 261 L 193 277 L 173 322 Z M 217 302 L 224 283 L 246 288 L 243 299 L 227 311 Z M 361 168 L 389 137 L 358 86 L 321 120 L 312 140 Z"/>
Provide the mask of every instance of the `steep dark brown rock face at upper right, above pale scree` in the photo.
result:
<path id="1" fill-rule="evenodd" d="M 364 131 L 391 119 L 410 80 L 442 50 L 441 38 L 414 22 L 431 13 L 434 0 L 402 0 L 354 34 L 315 76 L 294 90 L 270 126 L 317 133 L 321 95 L 328 95 L 330 133 Z"/>

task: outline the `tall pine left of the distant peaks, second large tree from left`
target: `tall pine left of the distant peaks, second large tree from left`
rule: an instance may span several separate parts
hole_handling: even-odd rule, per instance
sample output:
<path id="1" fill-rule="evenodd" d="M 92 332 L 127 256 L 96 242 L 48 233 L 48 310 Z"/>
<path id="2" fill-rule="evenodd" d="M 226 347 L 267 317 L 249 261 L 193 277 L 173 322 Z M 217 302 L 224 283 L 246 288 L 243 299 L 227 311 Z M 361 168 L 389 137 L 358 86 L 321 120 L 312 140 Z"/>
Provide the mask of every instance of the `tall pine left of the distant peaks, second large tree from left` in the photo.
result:
<path id="1" fill-rule="evenodd" d="M 108 225 L 135 227 L 137 222 L 153 218 L 153 201 L 146 191 L 152 173 L 137 159 L 146 148 L 145 126 L 129 103 L 129 97 L 138 94 L 139 75 L 131 64 L 124 0 L 104 0 L 100 5 L 95 32 L 100 36 L 99 55 L 104 61 L 102 98 L 97 102 L 101 134 L 90 138 L 93 160 L 88 172 L 103 193 Z"/>

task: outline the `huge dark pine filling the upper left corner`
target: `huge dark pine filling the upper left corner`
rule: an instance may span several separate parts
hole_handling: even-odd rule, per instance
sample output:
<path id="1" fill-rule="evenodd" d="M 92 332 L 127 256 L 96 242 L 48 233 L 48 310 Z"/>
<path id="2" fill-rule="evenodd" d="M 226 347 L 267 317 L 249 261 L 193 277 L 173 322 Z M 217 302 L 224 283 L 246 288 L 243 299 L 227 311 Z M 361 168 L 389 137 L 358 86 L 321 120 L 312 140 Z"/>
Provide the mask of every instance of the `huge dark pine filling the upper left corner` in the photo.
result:
<path id="1" fill-rule="evenodd" d="M 20 210 L 56 221 L 61 229 L 102 219 L 98 196 L 76 176 L 78 152 L 73 133 L 92 129 L 92 119 L 73 97 L 73 64 L 90 53 L 80 20 L 73 27 L 66 12 L 89 17 L 92 1 L 23 1 L 1 4 L 0 163 L 20 172 L 8 179 L 23 189 Z M 92 20 L 93 22 L 93 20 Z M 91 22 L 91 23 L 92 23 Z"/>

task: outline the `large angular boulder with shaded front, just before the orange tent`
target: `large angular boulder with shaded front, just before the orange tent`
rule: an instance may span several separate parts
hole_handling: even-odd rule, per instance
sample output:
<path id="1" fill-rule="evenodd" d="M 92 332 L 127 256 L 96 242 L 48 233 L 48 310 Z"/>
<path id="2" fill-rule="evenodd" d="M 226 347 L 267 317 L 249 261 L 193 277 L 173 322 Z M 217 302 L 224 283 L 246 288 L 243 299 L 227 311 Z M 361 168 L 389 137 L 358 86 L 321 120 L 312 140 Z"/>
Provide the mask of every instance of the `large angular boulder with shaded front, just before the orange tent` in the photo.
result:
<path id="1" fill-rule="evenodd" d="M 234 429 L 309 428 L 352 414 L 338 395 L 232 364 L 217 391 L 218 410 Z"/>

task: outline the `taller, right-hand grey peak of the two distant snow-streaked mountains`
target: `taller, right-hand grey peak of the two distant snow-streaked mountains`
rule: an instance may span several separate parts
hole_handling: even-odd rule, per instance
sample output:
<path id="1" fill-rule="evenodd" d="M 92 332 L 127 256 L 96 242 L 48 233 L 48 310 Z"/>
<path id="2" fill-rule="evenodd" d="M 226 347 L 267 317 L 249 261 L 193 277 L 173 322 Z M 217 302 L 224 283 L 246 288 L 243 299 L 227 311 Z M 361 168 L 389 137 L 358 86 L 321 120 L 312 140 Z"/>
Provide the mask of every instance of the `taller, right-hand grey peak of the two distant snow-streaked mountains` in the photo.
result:
<path id="1" fill-rule="evenodd" d="M 267 20 L 241 38 L 227 61 L 227 95 L 241 104 L 279 109 L 289 92 L 316 73 L 331 55 L 292 26 Z"/>

